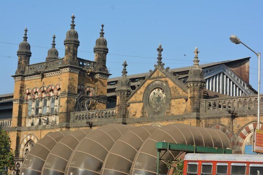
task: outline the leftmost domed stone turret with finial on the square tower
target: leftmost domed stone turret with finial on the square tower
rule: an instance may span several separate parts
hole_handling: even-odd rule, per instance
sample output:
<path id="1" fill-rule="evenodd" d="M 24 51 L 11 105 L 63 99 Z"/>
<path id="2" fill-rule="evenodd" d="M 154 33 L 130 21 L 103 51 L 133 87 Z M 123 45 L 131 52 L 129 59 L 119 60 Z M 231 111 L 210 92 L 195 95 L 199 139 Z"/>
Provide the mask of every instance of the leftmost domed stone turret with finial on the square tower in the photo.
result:
<path id="1" fill-rule="evenodd" d="M 25 66 L 29 64 L 31 57 L 30 44 L 27 42 L 27 28 L 25 28 L 24 40 L 17 50 L 18 64 L 16 74 L 25 74 Z"/>

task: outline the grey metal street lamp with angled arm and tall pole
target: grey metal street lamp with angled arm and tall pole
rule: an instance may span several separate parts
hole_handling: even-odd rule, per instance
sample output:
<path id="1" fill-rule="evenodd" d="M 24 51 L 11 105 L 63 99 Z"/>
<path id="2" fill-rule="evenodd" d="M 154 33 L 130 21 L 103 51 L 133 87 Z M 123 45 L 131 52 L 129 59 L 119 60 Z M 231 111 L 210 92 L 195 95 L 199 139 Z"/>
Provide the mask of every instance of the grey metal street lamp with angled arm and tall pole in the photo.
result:
<path id="1" fill-rule="evenodd" d="M 245 45 L 243 42 L 241 42 L 241 40 L 235 35 L 231 35 L 229 39 L 231 42 L 235 44 L 240 44 L 240 43 L 243 44 L 249 50 L 251 50 L 254 54 L 256 54 L 258 58 L 257 129 L 260 129 L 260 52 L 256 53 L 254 50 L 252 50 L 247 45 Z"/>

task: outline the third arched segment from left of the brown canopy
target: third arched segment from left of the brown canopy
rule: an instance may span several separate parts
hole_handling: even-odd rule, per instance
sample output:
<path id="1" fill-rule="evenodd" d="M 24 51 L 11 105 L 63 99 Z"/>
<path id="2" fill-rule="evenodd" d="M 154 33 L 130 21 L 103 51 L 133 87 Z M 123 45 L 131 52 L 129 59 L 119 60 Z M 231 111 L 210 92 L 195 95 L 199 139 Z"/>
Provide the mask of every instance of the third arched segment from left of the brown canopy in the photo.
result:
<path id="1" fill-rule="evenodd" d="M 88 134 L 71 154 L 65 174 L 100 174 L 100 169 L 114 143 L 134 126 L 104 125 Z"/>

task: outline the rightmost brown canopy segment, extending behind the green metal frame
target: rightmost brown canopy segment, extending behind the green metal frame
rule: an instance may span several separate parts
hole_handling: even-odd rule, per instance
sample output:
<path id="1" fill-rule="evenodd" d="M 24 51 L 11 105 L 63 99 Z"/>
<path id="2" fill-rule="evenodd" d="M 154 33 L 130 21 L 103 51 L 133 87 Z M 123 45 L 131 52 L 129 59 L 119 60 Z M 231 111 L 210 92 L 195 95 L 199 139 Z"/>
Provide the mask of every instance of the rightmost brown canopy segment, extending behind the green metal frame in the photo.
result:
<path id="1" fill-rule="evenodd" d="M 205 147 L 230 148 L 226 135 L 216 129 L 202 128 L 198 126 L 169 124 L 156 130 L 147 138 L 133 160 L 130 175 L 145 174 L 156 175 L 157 150 L 156 142 L 172 142 Z M 162 159 L 176 159 L 180 151 L 167 151 Z M 160 174 L 167 174 L 166 164 L 160 162 Z"/>

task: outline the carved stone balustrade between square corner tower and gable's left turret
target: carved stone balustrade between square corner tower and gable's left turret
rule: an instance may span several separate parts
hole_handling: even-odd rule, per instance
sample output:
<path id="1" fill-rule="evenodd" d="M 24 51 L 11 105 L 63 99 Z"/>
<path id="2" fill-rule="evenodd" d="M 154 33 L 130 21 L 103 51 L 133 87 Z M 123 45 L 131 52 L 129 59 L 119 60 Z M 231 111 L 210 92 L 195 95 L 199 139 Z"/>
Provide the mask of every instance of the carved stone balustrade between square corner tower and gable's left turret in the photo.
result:
<path id="1" fill-rule="evenodd" d="M 72 112 L 71 122 L 78 123 L 84 121 L 109 119 L 109 118 L 113 118 L 115 114 L 116 114 L 116 108 L 83 111 L 83 112 Z"/>

